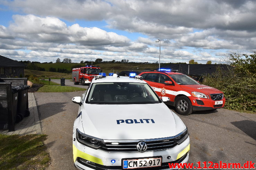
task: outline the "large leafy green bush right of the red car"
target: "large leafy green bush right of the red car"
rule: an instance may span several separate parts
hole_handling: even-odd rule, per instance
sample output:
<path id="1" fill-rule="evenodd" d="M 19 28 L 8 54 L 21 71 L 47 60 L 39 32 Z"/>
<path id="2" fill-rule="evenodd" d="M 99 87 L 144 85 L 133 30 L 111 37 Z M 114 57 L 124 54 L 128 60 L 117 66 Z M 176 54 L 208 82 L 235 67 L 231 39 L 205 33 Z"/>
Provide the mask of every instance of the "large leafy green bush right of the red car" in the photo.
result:
<path id="1" fill-rule="evenodd" d="M 206 75 L 203 84 L 224 92 L 225 108 L 256 112 L 256 53 L 251 55 L 229 54 L 226 62 L 232 66 L 228 70 L 217 68 Z"/>

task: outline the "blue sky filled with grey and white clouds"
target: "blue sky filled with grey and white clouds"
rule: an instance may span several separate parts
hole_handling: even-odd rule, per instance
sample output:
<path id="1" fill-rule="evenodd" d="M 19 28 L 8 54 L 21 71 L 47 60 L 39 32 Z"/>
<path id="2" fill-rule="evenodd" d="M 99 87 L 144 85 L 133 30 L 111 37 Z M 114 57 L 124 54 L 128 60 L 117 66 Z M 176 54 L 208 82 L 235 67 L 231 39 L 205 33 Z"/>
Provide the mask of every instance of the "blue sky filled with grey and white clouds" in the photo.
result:
<path id="1" fill-rule="evenodd" d="M 15 60 L 213 63 L 256 51 L 255 0 L 0 0 L 0 55 Z"/>

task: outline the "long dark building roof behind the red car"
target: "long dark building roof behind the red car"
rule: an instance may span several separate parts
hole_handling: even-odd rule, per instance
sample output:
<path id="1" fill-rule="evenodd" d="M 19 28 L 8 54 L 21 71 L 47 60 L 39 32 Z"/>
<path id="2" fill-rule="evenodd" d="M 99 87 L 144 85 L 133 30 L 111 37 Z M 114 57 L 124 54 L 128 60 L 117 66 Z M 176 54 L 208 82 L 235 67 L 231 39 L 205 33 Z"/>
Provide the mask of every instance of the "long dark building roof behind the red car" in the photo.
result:
<path id="1" fill-rule="evenodd" d="M 169 64 L 161 68 L 179 70 L 180 73 L 189 75 L 205 75 L 214 73 L 218 67 L 222 70 L 228 70 L 231 68 L 231 66 L 226 64 Z"/>

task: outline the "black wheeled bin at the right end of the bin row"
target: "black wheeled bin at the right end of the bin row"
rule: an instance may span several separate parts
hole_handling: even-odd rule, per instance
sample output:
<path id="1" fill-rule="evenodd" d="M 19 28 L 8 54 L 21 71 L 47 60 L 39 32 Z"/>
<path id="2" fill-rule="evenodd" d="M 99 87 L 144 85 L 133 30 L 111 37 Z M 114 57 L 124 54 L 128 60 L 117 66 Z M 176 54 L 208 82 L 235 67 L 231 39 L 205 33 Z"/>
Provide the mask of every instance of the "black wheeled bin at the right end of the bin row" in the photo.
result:
<path id="1" fill-rule="evenodd" d="M 16 122 L 19 122 L 24 117 L 30 115 L 28 110 L 28 85 L 19 86 L 21 90 L 18 92 L 18 107 L 17 107 L 17 117 Z"/>

